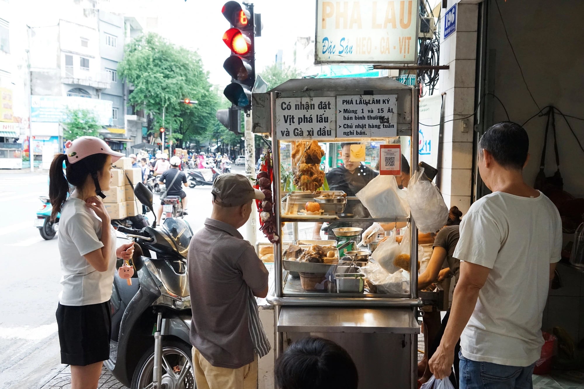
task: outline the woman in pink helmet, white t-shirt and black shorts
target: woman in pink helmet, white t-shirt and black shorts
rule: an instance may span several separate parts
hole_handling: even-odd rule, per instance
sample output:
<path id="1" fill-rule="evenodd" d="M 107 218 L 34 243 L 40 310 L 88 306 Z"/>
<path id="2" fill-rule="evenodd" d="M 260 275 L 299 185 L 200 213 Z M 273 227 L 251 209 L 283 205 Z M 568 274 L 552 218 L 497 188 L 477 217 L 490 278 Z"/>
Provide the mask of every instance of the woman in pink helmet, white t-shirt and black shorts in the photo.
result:
<path id="1" fill-rule="evenodd" d="M 72 388 L 96 388 L 109 359 L 110 297 L 116 258 L 130 259 L 133 243 L 116 249 L 115 231 L 103 206 L 112 162 L 123 154 L 103 140 L 81 137 L 53 159 L 48 195 L 52 218 L 61 213 L 58 246 L 62 291 L 57 307 L 61 363 L 71 365 Z M 66 166 L 67 178 L 62 165 Z M 69 184 L 75 189 L 69 194 Z"/>

